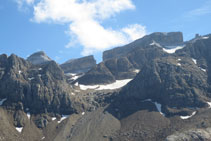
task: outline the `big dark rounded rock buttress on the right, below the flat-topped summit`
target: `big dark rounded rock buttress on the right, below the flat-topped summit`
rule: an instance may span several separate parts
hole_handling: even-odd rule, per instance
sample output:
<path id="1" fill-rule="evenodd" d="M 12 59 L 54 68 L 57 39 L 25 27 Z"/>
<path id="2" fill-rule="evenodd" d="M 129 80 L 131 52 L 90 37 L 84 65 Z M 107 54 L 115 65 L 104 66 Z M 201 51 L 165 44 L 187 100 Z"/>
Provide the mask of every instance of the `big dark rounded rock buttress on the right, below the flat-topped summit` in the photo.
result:
<path id="1" fill-rule="evenodd" d="M 170 107 L 201 107 L 211 97 L 207 75 L 190 58 L 163 57 L 143 67 L 120 92 L 123 97 L 152 99 Z"/>

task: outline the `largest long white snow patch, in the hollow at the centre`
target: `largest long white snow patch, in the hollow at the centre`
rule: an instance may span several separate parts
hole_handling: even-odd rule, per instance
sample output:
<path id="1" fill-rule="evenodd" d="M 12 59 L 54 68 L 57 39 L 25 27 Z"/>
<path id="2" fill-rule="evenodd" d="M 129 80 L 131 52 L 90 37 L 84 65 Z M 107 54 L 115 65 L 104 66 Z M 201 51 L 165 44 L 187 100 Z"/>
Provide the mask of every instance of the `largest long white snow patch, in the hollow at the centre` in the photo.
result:
<path id="1" fill-rule="evenodd" d="M 132 79 L 116 80 L 116 82 L 105 85 L 79 85 L 81 90 L 95 89 L 95 90 L 114 90 L 125 86 Z"/>

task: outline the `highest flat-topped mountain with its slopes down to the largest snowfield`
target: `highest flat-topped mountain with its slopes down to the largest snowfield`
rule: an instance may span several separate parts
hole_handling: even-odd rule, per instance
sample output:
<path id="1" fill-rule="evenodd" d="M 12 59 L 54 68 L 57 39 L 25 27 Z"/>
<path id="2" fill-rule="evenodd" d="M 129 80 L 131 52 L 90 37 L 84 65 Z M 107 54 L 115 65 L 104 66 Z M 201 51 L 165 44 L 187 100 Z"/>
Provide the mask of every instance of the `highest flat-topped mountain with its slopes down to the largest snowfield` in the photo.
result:
<path id="1" fill-rule="evenodd" d="M 126 46 L 103 52 L 103 62 L 78 81 L 81 84 L 105 84 L 134 78 L 144 64 L 168 56 L 163 48 L 183 45 L 181 32 L 152 33 Z M 97 78 L 93 81 L 91 78 Z"/>

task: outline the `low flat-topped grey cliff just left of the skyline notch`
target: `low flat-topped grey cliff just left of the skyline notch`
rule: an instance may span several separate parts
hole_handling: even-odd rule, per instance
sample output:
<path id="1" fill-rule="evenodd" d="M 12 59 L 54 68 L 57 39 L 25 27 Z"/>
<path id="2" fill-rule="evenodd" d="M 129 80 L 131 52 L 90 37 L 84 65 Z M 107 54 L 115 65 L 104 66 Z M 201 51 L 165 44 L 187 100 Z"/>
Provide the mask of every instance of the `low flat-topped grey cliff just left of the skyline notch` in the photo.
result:
<path id="1" fill-rule="evenodd" d="M 73 59 L 61 64 L 60 67 L 65 73 L 81 73 L 87 72 L 96 65 L 93 55 L 79 59 Z"/>

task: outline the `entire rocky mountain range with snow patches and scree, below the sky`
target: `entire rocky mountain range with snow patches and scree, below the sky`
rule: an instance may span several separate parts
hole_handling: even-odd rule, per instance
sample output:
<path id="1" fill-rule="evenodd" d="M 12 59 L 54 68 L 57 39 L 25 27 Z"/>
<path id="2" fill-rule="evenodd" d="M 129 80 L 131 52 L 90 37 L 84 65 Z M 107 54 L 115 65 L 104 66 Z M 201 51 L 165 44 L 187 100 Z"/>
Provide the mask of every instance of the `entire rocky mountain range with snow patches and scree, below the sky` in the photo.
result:
<path id="1" fill-rule="evenodd" d="M 211 35 L 152 33 L 57 64 L 0 55 L 0 141 L 211 140 Z"/>

